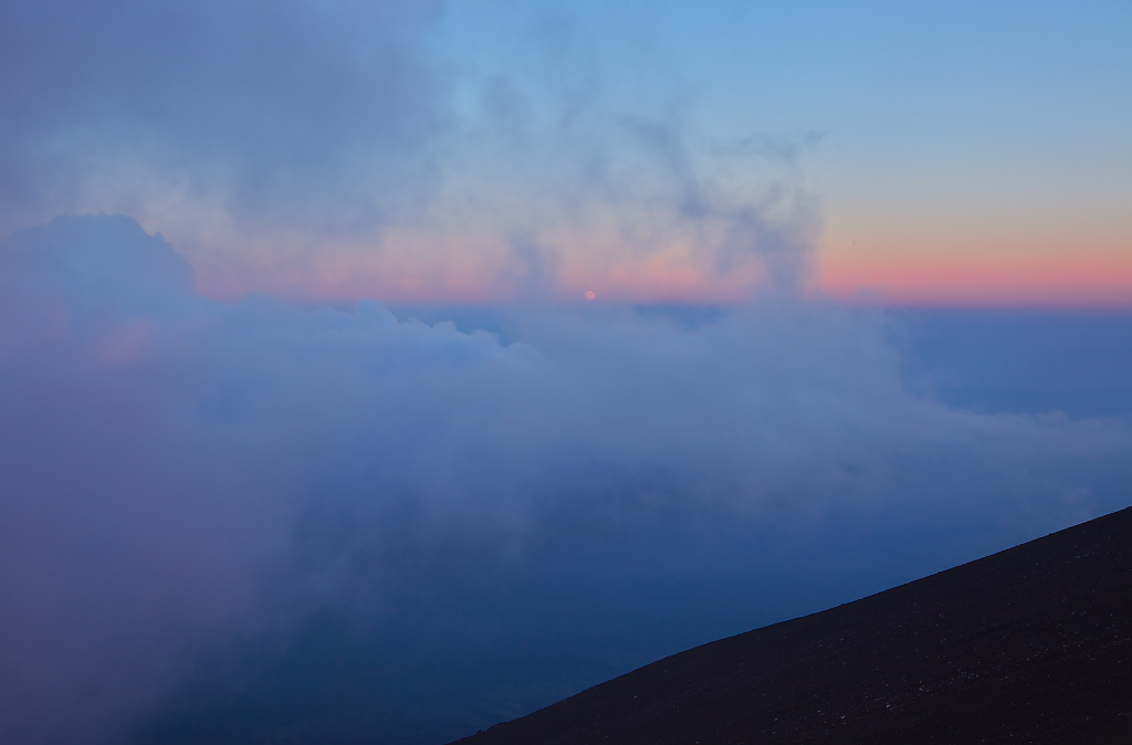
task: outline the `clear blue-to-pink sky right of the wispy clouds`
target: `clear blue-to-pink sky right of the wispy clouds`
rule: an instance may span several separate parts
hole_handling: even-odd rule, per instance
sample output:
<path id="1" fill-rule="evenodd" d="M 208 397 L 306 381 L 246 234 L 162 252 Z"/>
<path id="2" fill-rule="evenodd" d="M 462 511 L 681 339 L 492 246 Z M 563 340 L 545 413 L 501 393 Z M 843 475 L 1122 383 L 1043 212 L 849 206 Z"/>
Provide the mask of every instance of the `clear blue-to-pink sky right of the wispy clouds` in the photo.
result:
<path id="1" fill-rule="evenodd" d="M 920 301 L 963 305 L 962 273 L 969 284 L 989 274 L 976 303 L 993 305 L 994 285 L 1009 296 L 1004 275 L 1028 264 L 1061 268 L 1063 284 L 1096 285 L 1114 269 L 1127 282 L 1132 59 L 1122 3 L 453 10 L 444 38 L 456 55 L 475 60 L 477 75 L 525 84 L 546 110 L 581 95 L 715 144 L 792 140 L 791 165 L 822 204 L 824 286 L 895 280 L 904 302 L 919 289 Z M 960 272 L 950 293 L 916 281 L 949 266 Z M 1069 276 L 1074 268 L 1081 277 Z M 1088 301 L 1087 290 L 1048 286 L 1056 280 L 1030 283 L 1046 286 L 1013 302 Z"/>

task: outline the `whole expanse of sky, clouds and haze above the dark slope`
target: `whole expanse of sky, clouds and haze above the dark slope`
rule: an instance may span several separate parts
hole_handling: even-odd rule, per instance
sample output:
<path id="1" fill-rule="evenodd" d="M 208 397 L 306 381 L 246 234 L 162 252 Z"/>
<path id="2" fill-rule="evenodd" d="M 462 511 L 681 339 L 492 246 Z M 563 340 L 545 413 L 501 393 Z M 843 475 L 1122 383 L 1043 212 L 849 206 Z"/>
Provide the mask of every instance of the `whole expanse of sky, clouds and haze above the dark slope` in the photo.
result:
<path id="1" fill-rule="evenodd" d="M 1130 16 L 0 3 L 0 740 L 440 745 L 1127 506 Z"/>

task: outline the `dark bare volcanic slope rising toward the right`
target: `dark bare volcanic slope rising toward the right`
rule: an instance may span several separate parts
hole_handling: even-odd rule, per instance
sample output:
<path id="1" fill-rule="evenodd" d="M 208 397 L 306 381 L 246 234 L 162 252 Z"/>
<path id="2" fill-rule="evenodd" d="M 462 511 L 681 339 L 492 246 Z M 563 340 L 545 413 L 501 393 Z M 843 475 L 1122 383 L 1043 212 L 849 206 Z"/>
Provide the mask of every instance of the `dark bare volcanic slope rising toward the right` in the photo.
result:
<path id="1" fill-rule="evenodd" d="M 1132 507 L 460 743 L 1132 743 L 1130 713 Z"/>

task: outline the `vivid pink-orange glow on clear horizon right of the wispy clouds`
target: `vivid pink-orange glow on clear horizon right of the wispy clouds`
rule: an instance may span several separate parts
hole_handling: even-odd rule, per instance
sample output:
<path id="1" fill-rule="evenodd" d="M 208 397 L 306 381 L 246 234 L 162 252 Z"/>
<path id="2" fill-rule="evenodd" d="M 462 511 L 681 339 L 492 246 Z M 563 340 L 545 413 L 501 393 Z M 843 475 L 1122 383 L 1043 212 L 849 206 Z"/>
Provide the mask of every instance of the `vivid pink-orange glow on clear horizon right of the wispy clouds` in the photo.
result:
<path id="1" fill-rule="evenodd" d="M 1132 224 L 1062 220 L 871 220 L 837 214 L 811 289 L 849 303 L 1132 308 Z"/>

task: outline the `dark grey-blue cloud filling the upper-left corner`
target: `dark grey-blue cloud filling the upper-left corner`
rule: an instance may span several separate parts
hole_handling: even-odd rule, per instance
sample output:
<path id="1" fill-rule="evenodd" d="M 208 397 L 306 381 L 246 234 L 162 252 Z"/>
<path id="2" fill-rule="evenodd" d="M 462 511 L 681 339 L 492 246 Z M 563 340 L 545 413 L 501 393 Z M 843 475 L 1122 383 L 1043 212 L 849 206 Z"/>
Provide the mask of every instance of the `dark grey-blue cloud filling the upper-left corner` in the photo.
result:
<path id="1" fill-rule="evenodd" d="M 7 217 L 132 202 L 333 231 L 380 222 L 427 185 L 444 76 L 422 33 L 439 10 L 8 3 Z"/>

